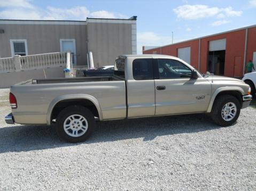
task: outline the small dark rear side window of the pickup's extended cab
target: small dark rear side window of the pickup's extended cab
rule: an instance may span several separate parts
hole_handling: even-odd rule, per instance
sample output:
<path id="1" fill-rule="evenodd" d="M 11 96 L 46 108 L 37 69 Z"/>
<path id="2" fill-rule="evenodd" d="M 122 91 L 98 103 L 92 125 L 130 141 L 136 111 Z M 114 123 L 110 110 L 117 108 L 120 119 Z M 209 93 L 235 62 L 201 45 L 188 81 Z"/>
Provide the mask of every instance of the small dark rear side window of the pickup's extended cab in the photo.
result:
<path id="1" fill-rule="evenodd" d="M 133 61 L 133 77 L 135 80 L 152 80 L 152 59 L 135 59 Z"/>

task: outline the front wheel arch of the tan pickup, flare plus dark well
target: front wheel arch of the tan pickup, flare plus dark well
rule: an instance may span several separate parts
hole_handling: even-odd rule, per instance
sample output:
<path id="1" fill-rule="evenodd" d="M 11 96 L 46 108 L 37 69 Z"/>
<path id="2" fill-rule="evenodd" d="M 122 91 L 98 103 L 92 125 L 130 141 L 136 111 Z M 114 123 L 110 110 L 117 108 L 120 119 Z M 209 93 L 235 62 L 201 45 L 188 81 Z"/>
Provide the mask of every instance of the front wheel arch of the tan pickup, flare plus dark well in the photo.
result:
<path id="1" fill-rule="evenodd" d="M 214 101 L 216 98 L 220 95 L 232 95 L 235 96 L 238 101 L 241 103 L 242 106 L 242 95 L 244 95 L 244 90 L 241 87 L 220 87 L 215 90 L 215 92 L 212 95 L 211 101 L 207 108 L 207 113 L 210 113 L 212 111 L 212 107 L 214 104 Z"/>

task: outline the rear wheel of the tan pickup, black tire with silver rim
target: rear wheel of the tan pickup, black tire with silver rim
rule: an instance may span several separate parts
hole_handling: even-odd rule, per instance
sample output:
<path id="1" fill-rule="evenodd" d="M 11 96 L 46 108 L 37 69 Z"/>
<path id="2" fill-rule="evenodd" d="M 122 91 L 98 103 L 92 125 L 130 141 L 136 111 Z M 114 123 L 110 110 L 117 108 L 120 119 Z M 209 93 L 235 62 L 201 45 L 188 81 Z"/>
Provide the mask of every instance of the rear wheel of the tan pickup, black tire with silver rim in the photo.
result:
<path id="1" fill-rule="evenodd" d="M 84 142 L 96 126 L 94 115 L 83 106 L 68 106 L 57 117 L 56 131 L 69 143 Z"/>

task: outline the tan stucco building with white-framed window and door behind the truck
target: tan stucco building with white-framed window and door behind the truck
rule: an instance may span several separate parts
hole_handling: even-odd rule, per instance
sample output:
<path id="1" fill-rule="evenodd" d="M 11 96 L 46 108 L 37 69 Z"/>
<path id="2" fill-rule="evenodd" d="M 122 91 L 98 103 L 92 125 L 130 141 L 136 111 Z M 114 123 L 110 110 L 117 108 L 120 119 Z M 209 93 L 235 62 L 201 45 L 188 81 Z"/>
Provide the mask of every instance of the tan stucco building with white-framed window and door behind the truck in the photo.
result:
<path id="1" fill-rule="evenodd" d="M 136 54 L 136 16 L 86 21 L 0 20 L 0 57 L 71 51 L 73 63 L 111 65 L 120 54 Z"/>

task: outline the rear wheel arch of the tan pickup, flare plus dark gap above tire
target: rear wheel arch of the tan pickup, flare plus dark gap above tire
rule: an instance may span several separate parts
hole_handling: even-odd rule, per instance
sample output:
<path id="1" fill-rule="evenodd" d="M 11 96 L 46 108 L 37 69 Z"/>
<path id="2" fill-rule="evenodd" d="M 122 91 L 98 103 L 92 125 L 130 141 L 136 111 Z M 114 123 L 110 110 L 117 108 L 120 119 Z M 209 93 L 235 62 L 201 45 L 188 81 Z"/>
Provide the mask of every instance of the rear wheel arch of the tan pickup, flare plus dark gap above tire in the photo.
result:
<path id="1" fill-rule="evenodd" d="M 54 119 L 53 115 L 56 115 L 56 108 L 60 106 L 61 108 L 64 109 L 67 106 L 71 105 L 82 105 L 82 106 L 89 106 L 89 110 L 94 113 L 96 117 L 99 118 L 99 120 L 102 120 L 102 110 L 100 109 L 100 105 L 98 100 L 91 95 L 88 94 L 71 94 L 71 95 L 61 95 L 56 97 L 55 99 L 52 100 L 48 107 L 48 112 L 46 115 L 46 121 L 47 124 L 51 124 L 52 119 Z M 59 111 L 57 111 L 59 112 Z"/>

